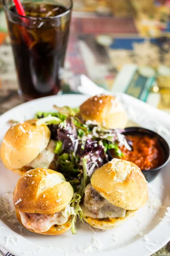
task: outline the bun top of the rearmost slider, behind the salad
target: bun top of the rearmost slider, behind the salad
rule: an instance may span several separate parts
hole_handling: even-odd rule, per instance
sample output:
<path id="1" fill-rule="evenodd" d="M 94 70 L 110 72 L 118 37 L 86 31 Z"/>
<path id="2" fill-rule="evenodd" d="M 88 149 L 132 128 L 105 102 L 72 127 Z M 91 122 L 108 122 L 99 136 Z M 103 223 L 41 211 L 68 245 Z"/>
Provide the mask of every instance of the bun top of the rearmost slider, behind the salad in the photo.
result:
<path id="1" fill-rule="evenodd" d="M 94 96 L 80 106 L 80 114 L 85 121 L 98 122 L 102 127 L 125 128 L 127 115 L 122 104 L 111 95 Z"/>

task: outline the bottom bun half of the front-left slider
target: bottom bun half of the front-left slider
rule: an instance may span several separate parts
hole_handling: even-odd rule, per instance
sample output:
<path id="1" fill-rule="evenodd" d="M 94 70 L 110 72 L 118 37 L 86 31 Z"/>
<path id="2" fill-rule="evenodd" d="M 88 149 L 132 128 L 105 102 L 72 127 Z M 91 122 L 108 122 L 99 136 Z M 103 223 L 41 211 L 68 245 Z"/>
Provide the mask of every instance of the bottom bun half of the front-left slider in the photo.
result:
<path id="1" fill-rule="evenodd" d="M 15 209 L 15 210 L 16 210 L 17 220 L 20 221 L 20 224 L 23 225 L 23 223 L 21 221 L 20 213 L 18 212 L 17 209 Z M 49 230 L 42 232 L 42 233 L 37 233 L 32 229 L 26 228 L 24 225 L 23 225 L 23 227 L 25 227 L 27 230 L 37 233 L 37 234 L 57 236 L 57 235 L 61 235 L 62 233 L 65 233 L 66 231 L 68 231 L 71 228 L 71 223 L 72 223 L 73 218 L 74 218 L 74 216 L 71 215 L 71 217 L 68 219 L 68 221 L 65 224 L 53 225 Z"/>

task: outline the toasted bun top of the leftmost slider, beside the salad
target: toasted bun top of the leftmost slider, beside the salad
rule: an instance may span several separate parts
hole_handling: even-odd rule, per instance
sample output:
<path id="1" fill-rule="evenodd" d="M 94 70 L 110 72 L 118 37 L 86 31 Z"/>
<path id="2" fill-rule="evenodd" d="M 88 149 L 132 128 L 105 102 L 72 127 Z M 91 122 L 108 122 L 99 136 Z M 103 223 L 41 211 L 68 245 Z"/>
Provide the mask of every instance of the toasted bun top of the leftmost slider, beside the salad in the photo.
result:
<path id="1" fill-rule="evenodd" d="M 7 169 L 20 169 L 31 163 L 45 149 L 51 132 L 46 125 L 36 125 L 36 119 L 13 125 L 6 132 L 0 157 Z"/>

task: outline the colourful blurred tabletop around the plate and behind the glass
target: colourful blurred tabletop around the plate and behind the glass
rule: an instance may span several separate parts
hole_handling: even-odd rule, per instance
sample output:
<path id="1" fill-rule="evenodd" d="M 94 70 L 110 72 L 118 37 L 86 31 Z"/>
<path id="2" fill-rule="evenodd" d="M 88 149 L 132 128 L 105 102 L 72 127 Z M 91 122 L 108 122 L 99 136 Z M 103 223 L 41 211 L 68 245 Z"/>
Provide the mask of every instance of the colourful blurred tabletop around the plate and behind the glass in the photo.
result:
<path id="1" fill-rule="evenodd" d="M 125 92 L 170 112 L 170 1 L 75 0 L 74 10 L 65 81 L 83 73 L 111 92 Z M 17 89 L 0 9 L 0 114 L 22 103 Z M 65 93 L 72 89 L 63 87 Z M 170 242 L 154 255 L 170 256 Z"/>

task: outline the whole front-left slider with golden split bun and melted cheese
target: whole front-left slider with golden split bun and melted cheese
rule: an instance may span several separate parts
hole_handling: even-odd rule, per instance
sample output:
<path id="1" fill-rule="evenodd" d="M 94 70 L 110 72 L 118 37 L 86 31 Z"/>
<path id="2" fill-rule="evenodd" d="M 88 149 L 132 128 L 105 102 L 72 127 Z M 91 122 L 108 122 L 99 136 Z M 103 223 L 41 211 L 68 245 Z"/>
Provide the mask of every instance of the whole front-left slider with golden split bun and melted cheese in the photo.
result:
<path id="1" fill-rule="evenodd" d="M 65 177 L 50 169 L 32 169 L 18 180 L 13 203 L 17 219 L 29 231 L 60 235 L 69 230 L 75 213 L 69 212 L 74 192 Z"/>

